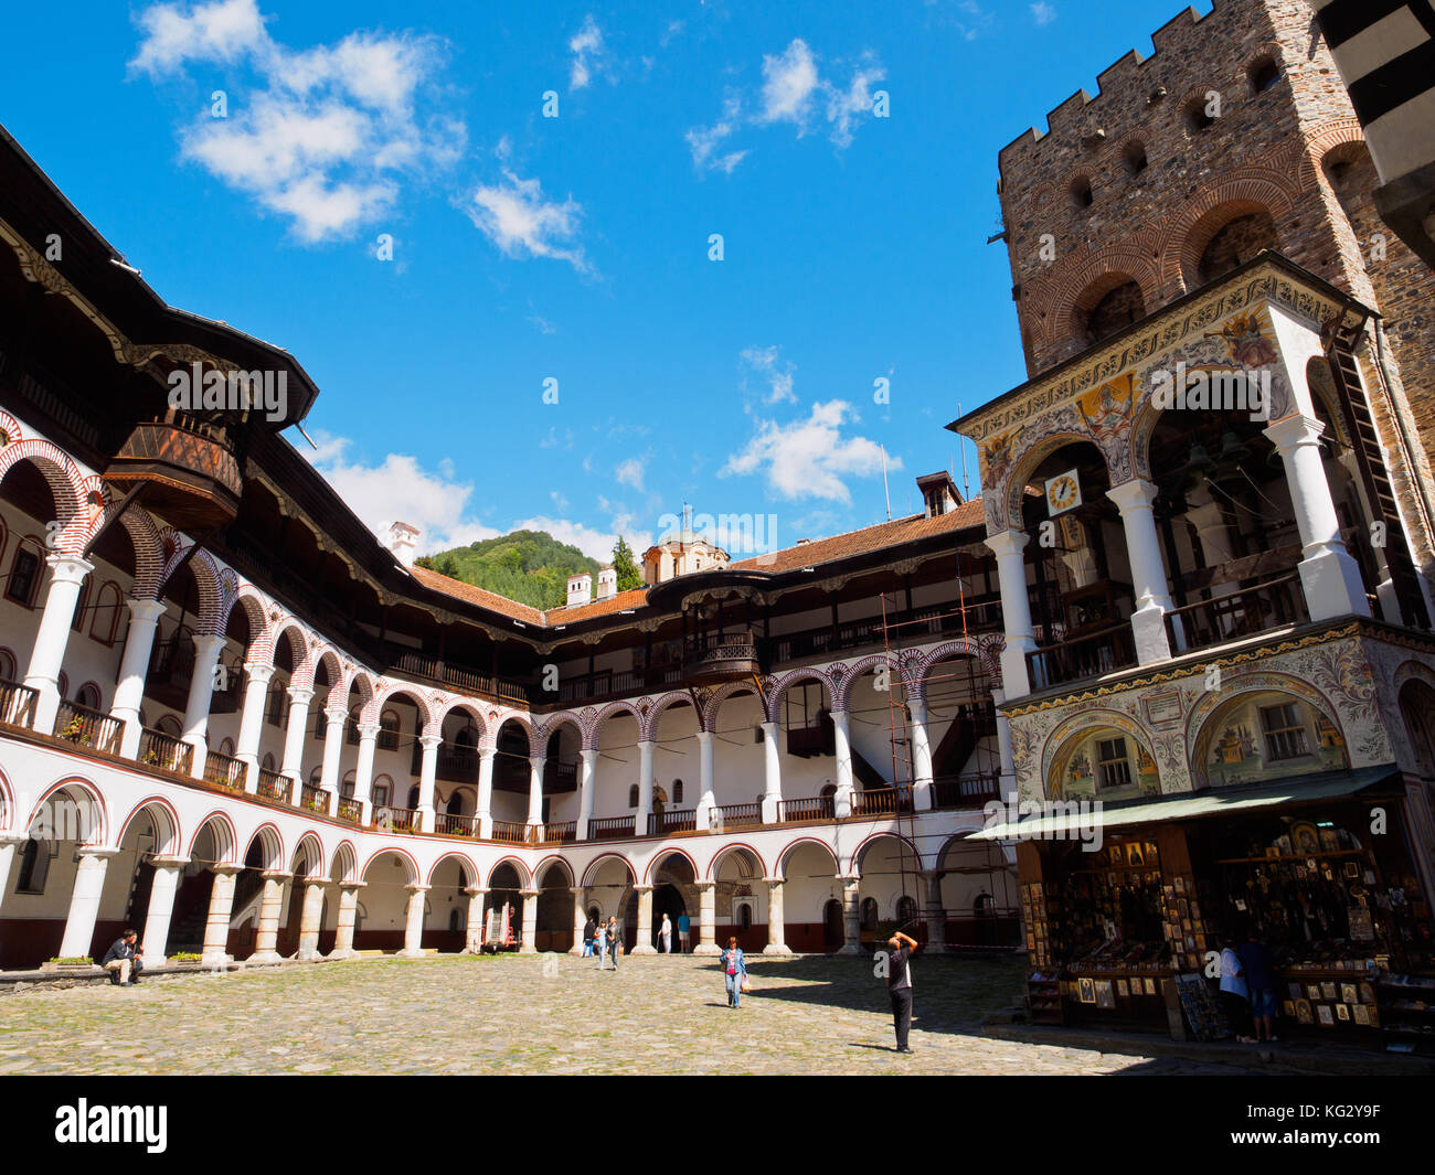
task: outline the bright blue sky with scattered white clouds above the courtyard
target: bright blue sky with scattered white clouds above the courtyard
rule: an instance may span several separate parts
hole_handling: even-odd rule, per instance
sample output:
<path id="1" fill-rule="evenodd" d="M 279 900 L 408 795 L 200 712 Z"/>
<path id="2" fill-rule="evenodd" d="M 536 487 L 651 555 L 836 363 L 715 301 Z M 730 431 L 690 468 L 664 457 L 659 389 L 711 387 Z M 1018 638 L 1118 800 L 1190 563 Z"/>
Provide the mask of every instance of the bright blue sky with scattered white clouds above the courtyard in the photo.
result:
<path id="1" fill-rule="evenodd" d="M 789 545 L 885 518 L 883 452 L 894 515 L 976 489 L 941 426 L 1025 379 L 996 152 L 1180 9 L 32 4 L 0 121 L 300 359 L 290 436 L 370 525 L 601 557 L 692 502 Z"/>

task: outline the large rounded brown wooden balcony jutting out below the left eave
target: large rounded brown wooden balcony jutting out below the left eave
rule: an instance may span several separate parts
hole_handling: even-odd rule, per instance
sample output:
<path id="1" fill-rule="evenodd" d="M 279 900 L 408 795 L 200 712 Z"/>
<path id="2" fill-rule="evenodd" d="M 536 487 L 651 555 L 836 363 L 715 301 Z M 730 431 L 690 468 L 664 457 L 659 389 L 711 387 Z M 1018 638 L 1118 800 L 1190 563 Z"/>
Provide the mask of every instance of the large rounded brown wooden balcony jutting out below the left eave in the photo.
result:
<path id="1" fill-rule="evenodd" d="M 224 429 L 182 412 L 136 425 L 105 481 L 121 494 L 144 485 L 145 508 L 189 534 L 232 522 L 244 491 Z"/>

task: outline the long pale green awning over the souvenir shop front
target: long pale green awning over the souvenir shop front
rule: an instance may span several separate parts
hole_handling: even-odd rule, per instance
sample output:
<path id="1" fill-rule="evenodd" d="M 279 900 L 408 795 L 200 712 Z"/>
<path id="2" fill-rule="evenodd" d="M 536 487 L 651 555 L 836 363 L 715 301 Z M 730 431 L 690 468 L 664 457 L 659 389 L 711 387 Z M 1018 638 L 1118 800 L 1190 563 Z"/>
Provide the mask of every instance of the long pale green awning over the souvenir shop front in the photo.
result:
<path id="1" fill-rule="evenodd" d="M 1048 841 L 1071 839 L 1059 834 L 1079 832 L 1089 828 L 1121 828 L 1135 824 L 1158 824 L 1170 821 L 1194 821 L 1208 816 L 1230 816 L 1257 808 L 1274 808 L 1281 803 L 1309 803 L 1320 799 L 1340 799 L 1368 791 L 1382 783 L 1399 780 L 1401 769 L 1395 763 L 1356 770 L 1314 772 L 1294 775 L 1276 783 L 1244 783 L 1234 788 L 1215 788 L 1198 793 L 1180 793 L 1159 799 L 1125 801 L 1102 805 L 1099 809 L 1088 805 L 1085 811 L 1065 812 L 1050 816 L 1027 816 L 1025 821 L 999 824 L 970 834 L 967 841 Z"/>

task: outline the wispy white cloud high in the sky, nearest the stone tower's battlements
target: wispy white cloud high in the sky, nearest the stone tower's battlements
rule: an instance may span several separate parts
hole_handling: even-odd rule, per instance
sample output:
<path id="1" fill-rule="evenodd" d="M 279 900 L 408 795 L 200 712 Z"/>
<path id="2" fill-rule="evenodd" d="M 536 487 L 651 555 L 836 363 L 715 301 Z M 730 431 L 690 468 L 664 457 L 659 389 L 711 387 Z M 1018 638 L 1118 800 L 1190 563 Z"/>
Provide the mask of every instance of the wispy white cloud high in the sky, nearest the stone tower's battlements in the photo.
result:
<path id="1" fill-rule="evenodd" d="M 745 125 L 788 122 L 796 128 L 798 138 L 802 138 L 814 125 L 825 123 L 832 145 L 847 148 L 852 142 L 858 118 L 872 110 L 872 83 L 887 76 L 870 53 L 862 55 L 851 69 L 845 85 L 824 77 L 817 56 L 801 37 L 794 37 L 782 53 L 765 55 L 762 90 L 753 102 L 755 113 L 745 118 L 742 96 L 728 95 L 718 122 L 687 131 L 684 138 L 693 155 L 693 166 L 697 171 L 722 171 L 730 175 L 748 155 L 748 149 L 723 148 Z"/>

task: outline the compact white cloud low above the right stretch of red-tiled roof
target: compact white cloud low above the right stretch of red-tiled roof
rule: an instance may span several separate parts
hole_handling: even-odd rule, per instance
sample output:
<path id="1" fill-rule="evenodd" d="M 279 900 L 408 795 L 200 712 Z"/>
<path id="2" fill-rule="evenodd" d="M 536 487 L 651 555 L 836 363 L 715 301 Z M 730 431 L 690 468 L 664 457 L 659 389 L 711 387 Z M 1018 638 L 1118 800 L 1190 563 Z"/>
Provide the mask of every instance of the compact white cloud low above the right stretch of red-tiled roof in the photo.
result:
<path id="1" fill-rule="evenodd" d="M 825 498 L 851 504 L 844 478 L 880 472 L 883 455 L 875 440 L 842 436 L 850 416 L 855 416 L 850 403 L 828 400 L 812 405 L 806 419 L 786 425 L 762 420 L 756 435 L 728 458 L 718 476 L 762 473 L 768 486 L 788 501 Z M 900 469 L 901 462 L 888 456 L 887 468 Z"/>

